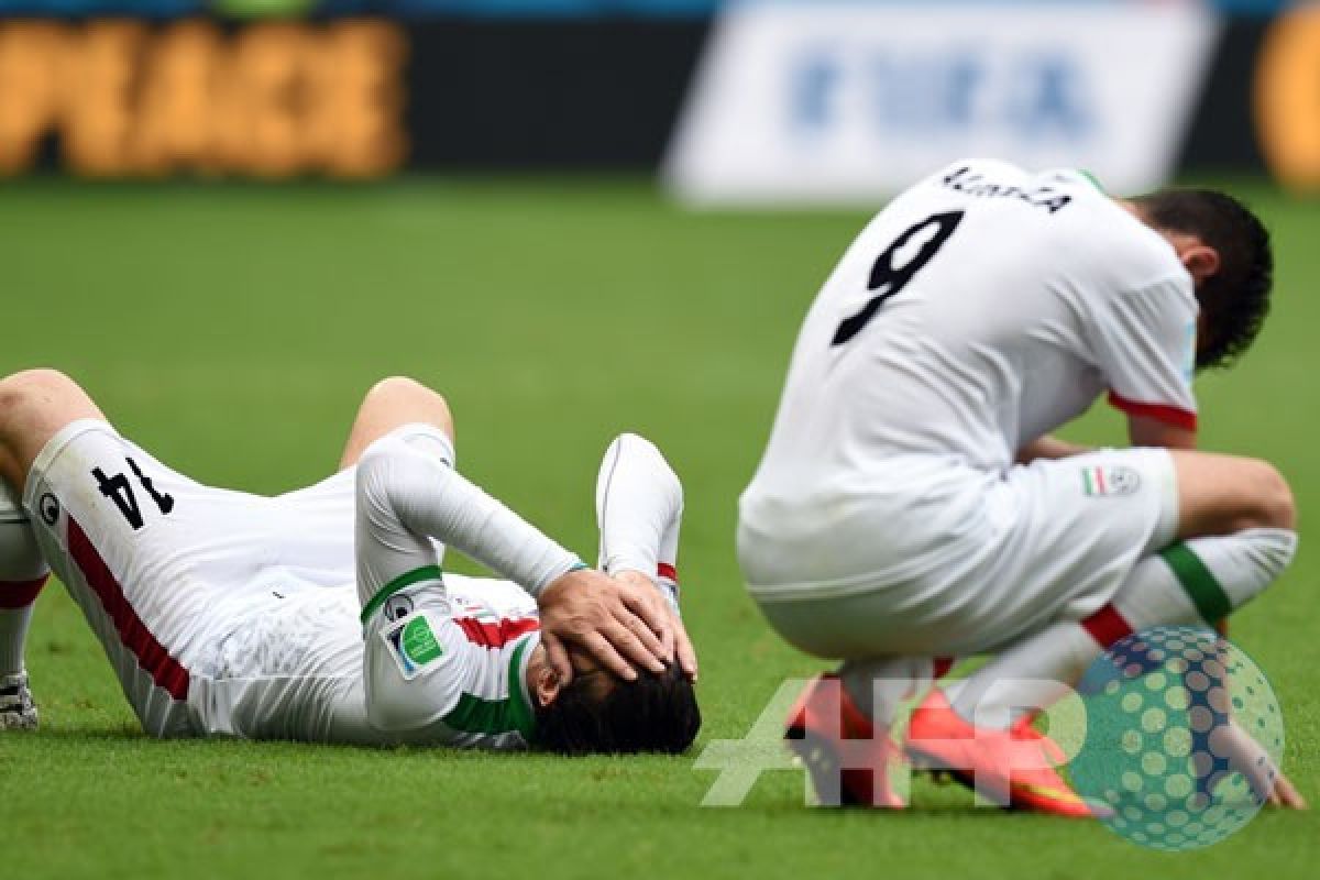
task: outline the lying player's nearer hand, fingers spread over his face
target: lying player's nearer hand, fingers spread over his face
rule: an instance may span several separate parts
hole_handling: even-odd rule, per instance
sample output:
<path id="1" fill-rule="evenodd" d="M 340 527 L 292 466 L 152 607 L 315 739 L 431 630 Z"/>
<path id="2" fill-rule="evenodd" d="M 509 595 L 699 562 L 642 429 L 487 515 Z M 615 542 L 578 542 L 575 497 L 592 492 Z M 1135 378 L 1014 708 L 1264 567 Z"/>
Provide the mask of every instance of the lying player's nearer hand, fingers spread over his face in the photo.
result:
<path id="1" fill-rule="evenodd" d="M 573 679 L 566 644 L 582 648 L 624 681 L 636 679 L 636 669 L 664 672 L 673 660 L 672 627 L 636 594 L 590 569 L 569 571 L 541 591 L 541 641 L 562 682 Z"/>

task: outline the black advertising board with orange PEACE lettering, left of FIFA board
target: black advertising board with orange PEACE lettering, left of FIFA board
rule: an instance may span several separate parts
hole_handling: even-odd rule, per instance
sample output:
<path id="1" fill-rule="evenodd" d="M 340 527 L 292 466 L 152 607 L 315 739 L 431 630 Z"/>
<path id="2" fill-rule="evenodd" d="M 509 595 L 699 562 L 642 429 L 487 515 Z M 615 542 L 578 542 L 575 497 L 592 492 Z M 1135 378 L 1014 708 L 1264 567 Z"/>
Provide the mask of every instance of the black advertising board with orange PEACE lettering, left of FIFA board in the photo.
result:
<path id="1" fill-rule="evenodd" d="M 704 21 L 0 18 L 0 177 L 656 168 Z"/>

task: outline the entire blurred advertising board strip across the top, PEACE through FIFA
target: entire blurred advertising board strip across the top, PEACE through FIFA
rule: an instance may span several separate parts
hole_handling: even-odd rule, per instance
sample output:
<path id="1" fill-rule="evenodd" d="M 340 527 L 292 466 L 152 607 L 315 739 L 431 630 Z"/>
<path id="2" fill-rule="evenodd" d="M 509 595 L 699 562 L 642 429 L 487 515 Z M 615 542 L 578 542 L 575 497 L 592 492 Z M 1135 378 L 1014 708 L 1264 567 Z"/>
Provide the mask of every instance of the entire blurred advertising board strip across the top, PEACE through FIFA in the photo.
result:
<path id="1" fill-rule="evenodd" d="M 0 177 L 659 166 L 693 203 L 874 203 L 977 153 L 1320 191 L 1320 3 L 0 0 Z"/>

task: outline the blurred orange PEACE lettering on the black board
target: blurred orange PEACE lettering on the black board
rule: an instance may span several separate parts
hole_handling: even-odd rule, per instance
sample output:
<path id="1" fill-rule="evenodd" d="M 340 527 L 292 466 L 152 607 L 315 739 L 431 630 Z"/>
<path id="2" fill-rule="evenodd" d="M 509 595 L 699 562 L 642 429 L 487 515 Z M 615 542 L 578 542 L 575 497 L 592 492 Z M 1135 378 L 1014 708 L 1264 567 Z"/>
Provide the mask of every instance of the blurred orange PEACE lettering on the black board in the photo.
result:
<path id="1" fill-rule="evenodd" d="M 399 25 L 0 22 L 0 174 L 379 177 L 404 160 Z"/>

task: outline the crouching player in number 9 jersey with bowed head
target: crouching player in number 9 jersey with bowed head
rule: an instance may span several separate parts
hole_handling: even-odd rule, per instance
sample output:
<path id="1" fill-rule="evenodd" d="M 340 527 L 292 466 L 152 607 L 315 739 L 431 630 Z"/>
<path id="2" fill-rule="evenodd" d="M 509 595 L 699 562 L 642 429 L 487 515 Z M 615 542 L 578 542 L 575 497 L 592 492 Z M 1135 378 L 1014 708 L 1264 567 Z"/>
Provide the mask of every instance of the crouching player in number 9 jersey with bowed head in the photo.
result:
<path id="1" fill-rule="evenodd" d="M 994 653 L 924 697 L 907 757 L 1090 814 L 1031 727 L 1063 690 L 1039 682 L 1074 685 L 1133 631 L 1216 624 L 1292 559 L 1279 472 L 1192 451 L 1193 371 L 1250 346 L 1271 273 L 1269 234 L 1226 195 L 1122 201 L 994 161 L 931 175 L 862 231 L 799 335 L 738 555 L 784 639 L 843 660 L 843 736 L 873 741 L 870 765 L 904 757 L 890 726 L 941 657 Z M 1048 437 L 1106 392 L 1135 449 Z M 838 687 L 789 720 L 818 790 L 840 784 Z M 1041 767 L 1011 767 L 1023 749 Z M 1300 803 L 1282 777 L 1274 796 Z M 845 773 L 841 797 L 902 806 L 883 772 Z"/>

